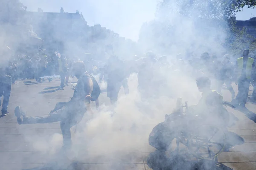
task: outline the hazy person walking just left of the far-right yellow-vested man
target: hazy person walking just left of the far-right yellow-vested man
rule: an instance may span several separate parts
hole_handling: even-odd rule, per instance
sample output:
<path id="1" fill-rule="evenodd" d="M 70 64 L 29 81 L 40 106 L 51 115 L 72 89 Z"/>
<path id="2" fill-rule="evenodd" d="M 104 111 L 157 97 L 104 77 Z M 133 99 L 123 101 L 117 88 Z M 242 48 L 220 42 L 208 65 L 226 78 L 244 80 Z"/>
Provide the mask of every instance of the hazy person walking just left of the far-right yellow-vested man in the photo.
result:
<path id="1" fill-rule="evenodd" d="M 230 55 L 226 54 L 223 56 L 223 60 L 221 62 L 220 69 L 220 84 L 219 91 L 221 92 L 221 87 L 223 83 L 226 84 L 227 89 L 230 91 L 232 98 L 235 97 L 235 91 L 232 87 L 232 76 L 234 72 L 234 65 L 230 62 Z"/>

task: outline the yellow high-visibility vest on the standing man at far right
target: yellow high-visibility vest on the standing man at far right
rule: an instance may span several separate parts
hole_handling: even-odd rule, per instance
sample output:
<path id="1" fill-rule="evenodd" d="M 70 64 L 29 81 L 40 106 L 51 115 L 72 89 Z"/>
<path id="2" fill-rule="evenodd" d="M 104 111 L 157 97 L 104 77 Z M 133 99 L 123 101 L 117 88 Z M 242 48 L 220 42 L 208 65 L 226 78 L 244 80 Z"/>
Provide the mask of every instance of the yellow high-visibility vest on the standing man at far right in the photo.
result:
<path id="1" fill-rule="evenodd" d="M 240 77 L 242 74 L 243 66 L 244 66 L 244 57 L 240 57 L 240 58 L 236 59 L 236 61 L 238 64 L 238 73 L 237 74 L 238 74 L 238 77 Z M 253 62 L 254 62 L 254 59 L 248 57 L 247 64 L 246 64 L 246 78 L 247 79 L 251 78 Z"/>

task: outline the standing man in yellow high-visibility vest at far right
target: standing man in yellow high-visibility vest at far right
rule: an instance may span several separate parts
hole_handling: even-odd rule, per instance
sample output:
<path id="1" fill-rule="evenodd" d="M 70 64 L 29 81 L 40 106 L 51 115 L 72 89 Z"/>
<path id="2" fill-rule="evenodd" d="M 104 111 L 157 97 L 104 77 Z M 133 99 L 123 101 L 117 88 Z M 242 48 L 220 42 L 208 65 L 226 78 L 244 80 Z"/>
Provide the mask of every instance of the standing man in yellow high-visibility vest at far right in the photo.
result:
<path id="1" fill-rule="evenodd" d="M 242 108 L 245 107 L 247 101 L 250 81 L 255 74 L 255 61 L 253 58 L 248 57 L 249 50 L 243 51 L 243 56 L 236 59 L 235 66 L 235 79 L 238 85 L 238 94 L 236 99 L 233 100 L 235 105 L 240 105 Z"/>

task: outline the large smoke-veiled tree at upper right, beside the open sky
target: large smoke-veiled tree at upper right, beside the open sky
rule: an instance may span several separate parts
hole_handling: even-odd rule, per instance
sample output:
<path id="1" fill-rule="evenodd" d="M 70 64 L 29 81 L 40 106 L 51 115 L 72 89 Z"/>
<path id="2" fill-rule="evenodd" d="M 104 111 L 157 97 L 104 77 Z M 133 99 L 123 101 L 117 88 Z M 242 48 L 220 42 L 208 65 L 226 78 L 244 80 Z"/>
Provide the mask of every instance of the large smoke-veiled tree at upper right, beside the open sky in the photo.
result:
<path id="1" fill-rule="evenodd" d="M 139 42 L 144 42 L 145 49 L 151 46 L 168 53 L 189 49 L 199 54 L 211 50 L 222 54 L 230 49 L 239 50 L 237 47 L 244 37 L 239 47 L 253 48 L 253 37 L 245 30 L 236 29 L 233 17 L 242 4 L 253 8 L 254 3 L 254 0 L 250 3 L 248 0 L 161 0 L 157 5 L 157 19 L 143 25 Z"/>

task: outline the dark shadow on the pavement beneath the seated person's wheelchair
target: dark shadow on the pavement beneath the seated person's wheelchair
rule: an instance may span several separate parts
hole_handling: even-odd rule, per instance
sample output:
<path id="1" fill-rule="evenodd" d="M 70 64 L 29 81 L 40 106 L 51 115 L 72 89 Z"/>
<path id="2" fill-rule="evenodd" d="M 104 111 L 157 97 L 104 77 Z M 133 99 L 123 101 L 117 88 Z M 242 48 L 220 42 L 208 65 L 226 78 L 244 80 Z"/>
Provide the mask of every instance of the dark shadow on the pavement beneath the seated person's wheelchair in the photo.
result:
<path id="1" fill-rule="evenodd" d="M 185 156 L 172 154 L 166 156 L 164 152 L 154 151 L 148 156 L 148 167 L 153 170 L 232 170 L 213 160 L 187 160 Z"/>

